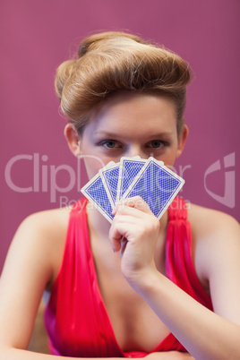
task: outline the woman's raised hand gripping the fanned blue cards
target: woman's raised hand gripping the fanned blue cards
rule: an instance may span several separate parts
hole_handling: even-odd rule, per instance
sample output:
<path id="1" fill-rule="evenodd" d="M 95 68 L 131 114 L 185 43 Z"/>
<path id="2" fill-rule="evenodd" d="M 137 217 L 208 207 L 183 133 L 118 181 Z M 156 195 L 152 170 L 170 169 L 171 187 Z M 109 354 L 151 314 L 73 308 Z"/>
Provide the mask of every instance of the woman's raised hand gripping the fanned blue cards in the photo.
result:
<path id="1" fill-rule="evenodd" d="M 154 250 L 159 237 L 159 220 L 140 196 L 121 202 L 113 214 L 110 242 L 114 251 L 120 250 L 124 277 L 132 283 L 149 270 L 156 271 Z"/>

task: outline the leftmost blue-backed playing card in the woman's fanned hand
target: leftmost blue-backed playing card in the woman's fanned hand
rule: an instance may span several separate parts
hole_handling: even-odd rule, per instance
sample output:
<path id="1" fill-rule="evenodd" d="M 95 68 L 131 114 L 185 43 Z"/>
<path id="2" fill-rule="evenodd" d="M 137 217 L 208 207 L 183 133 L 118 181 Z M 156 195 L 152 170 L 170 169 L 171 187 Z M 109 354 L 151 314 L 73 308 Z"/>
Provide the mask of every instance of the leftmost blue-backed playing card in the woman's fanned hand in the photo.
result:
<path id="1" fill-rule="evenodd" d="M 114 216 L 112 215 L 113 207 L 108 199 L 106 189 L 102 178 L 99 174 L 94 176 L 85 186 L 81 188 L 86 198 L 100 211 L 100 213 L 112 223 Z"/>

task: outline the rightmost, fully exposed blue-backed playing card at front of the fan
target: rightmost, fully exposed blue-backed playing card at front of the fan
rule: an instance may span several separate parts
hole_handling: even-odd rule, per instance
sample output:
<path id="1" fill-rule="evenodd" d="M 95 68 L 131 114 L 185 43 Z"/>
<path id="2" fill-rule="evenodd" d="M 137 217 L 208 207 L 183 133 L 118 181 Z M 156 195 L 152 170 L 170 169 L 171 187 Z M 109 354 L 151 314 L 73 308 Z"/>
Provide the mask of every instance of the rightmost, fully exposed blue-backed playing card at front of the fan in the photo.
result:
<path id="1" fill-rule="evenodd" d="M 184 185 L 182 177 L 162 164 L 150 158 L 123 194 L 124 199 L 140 195 L 158 219 Z"/>

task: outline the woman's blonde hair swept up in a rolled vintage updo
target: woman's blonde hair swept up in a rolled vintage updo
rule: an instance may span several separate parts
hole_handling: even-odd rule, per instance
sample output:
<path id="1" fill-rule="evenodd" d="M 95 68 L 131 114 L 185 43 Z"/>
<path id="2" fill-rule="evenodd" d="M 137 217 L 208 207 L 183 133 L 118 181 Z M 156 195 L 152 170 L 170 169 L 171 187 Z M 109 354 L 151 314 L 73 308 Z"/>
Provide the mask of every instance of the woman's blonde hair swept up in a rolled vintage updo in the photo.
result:
<path id="1" fill-rule="evenodd" d="M 55 86 L 62 112 L 78 132 L 103 99 L 130 90 L 173 99 L 180 133 L 190 77 L 189 65 L 180 56 L 138 36 L 111 31 L 84 39 L 78 58 L 58 67 Z"/>

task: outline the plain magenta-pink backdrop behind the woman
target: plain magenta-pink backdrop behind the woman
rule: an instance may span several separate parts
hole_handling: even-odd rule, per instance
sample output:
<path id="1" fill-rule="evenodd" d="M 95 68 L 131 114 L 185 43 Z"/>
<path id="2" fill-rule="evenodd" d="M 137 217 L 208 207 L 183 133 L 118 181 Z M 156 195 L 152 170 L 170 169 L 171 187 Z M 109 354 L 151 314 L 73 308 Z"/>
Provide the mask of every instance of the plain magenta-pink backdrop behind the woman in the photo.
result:
<path id="1" fill-rule="evenodd" d="M 22 219 L 81 196 L 86 176 L 64 141 L 53 81 L 98 30 L 130 30 L 191 64 L 182 195 L 239 220 L 239 13 L 239 0 L 1 0 L 0 270 Z"/>

